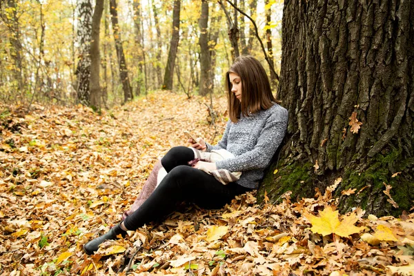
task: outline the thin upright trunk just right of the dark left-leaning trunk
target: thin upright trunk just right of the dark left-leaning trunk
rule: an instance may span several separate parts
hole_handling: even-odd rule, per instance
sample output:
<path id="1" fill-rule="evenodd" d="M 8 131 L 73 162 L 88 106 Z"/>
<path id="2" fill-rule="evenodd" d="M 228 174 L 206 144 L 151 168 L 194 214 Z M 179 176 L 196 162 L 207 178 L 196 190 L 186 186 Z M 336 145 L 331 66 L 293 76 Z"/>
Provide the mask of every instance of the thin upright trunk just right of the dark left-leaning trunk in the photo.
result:
<path id="1" fill-rule="evenodd" d="M 141 25 L 142 25 L 142 15 L 141 15 L 141 0 L 134 0 L 133 2 L 134 8 L 134 24 L 135 24 L 135 44 L 137 45 L 137 61 L 138 61 L 138 72 L 137 72 L 137 92 L 135 95 L 141 94 L 141 86 L 144 84 L 144 47 L 141 43 L 143 37 L 141 32 Z"/>

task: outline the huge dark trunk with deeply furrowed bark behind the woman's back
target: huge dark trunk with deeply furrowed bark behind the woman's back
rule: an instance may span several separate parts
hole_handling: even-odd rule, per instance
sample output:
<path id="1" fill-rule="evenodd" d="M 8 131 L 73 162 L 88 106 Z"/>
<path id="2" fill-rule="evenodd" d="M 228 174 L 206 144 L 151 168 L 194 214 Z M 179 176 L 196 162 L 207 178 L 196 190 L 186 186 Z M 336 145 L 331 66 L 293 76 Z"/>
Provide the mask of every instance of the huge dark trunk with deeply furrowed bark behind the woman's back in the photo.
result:
<path id="1" fill-rule="evenodd" d="M 259 195 L 309 197 L 342 177 L 342 210 L 396 215 L 413 205 L 414 2 L 368 2 L 285 1 L 288 132 Z"/>

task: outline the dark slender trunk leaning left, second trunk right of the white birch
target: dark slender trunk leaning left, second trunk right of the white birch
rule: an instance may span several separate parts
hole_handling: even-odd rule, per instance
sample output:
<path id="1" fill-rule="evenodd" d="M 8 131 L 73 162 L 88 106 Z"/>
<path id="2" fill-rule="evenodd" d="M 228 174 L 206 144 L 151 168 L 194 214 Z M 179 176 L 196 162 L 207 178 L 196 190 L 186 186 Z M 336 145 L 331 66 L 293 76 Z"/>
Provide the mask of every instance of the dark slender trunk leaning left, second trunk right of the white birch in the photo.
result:
<path id="1" fill-rule="evenodd" d="M 124 48 L 122 47 L 121 30 L 118 25 L 118 10 L 117 1 L 110 0 L 110 14 L 112 21 L 112 29 L 114 31 L 115 49 L 117 50 L 117 58 L 119 64 L 119 77 L 121 78 L 122 88 L 124 90 L 124 103 L 133 99 L 132 89 L 128 78 L 128 68 L 124 55 Z"/>

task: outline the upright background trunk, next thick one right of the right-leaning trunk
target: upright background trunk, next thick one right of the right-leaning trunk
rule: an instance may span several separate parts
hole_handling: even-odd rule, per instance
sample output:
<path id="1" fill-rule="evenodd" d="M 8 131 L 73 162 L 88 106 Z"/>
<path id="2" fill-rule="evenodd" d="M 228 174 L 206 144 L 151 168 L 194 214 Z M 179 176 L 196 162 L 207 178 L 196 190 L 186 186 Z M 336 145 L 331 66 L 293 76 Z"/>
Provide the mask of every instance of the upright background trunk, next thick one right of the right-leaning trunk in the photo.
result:
<path id="1" fill-rule="evenodd" d="M 208 47 L 208 1 L 201 1 L 200 26 L 200 87 L 199 95 L 206 96 L 211 89 L 212 79 L 210 77 L 211 61 Z"/>

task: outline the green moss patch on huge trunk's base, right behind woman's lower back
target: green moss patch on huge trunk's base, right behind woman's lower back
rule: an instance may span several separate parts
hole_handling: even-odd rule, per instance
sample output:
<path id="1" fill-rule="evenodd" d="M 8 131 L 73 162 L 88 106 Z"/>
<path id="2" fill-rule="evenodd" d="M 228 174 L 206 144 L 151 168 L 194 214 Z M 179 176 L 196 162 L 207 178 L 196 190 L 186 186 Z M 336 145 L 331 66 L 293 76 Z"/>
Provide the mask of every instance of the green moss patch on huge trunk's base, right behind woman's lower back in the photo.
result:
<path id="1" fill-rule="evenodd" d="M 292 191 L 293 198 L 306 197 L 309 194 L 309 184 L 313 182 L 312 167 L 311 163 L 282 164 L 274 173 L 276 164 L 272 164 L 257 193 L 258 202 L 263 201 L 265 190 L 273 203 L 279 201 L 280 196 L 287 191 Z"/>

